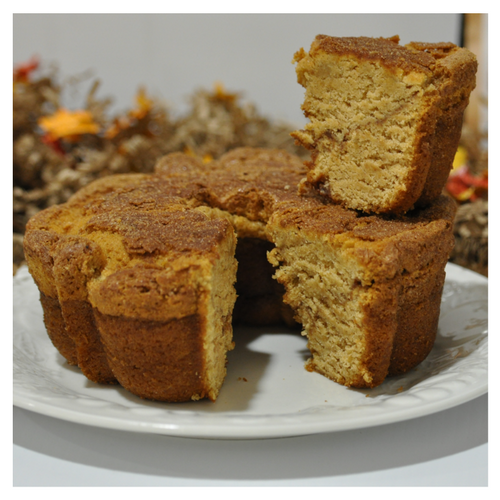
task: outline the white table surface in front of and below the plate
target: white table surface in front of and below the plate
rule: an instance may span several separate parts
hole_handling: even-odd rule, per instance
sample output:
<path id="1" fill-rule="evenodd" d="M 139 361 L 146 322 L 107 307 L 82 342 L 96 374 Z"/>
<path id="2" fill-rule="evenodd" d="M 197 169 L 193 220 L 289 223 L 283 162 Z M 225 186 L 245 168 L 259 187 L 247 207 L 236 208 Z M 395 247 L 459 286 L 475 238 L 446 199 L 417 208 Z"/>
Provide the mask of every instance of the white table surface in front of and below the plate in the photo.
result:
<path id="1" fill-rule="evenodd" d="M 189 439 L 14 407 L 14 486 L 487 486 L 488 395 L 353 431 Z"/>

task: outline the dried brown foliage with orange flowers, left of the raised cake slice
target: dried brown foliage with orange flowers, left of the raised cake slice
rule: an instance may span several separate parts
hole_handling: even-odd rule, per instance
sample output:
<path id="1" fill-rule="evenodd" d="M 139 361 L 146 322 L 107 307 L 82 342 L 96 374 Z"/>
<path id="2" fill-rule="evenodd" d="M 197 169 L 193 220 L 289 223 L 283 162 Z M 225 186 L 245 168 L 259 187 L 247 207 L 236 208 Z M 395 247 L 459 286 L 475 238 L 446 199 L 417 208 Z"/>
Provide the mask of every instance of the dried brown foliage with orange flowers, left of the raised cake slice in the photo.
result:
<path id="1" fill-rule="evenodd" d="M 99 80 L 83 103 L 65 106 L 63 91 L 82 80 L 66 80 L 63 87 L 56 69 L 47 72 L 41 63 L 32 58 L 14 68 L 13 230 L 14 245 L 20 249 L 16 265 L 22 262 L 28 219 L 64 203 L 97 178 L 152 172 L 159 157 L 174 151 L 203 162 L 241 146 L 305 153 L 290 136 L 295 126 L 267 119 L 221 83 L 187 96 L 191 106 L 177 117 L 144 87 L 138 89 L 131 109 L 109 117 L 112 100 L 96 95 Z"/>

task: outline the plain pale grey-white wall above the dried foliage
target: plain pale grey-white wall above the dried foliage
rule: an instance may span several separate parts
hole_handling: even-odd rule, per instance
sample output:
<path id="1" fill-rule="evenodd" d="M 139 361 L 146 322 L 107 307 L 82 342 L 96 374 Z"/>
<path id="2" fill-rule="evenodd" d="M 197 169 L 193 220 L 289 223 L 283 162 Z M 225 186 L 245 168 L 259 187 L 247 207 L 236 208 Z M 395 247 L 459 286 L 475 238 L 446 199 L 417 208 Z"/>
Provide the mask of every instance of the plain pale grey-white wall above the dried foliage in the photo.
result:
<path id="1" fill-rule="evenodd" d="M 38 55 L 61 77 L 90 71 L 111 112 L 133 105 L 139 86 L 187 109 L 187 97 L 220 81 L 261 114 L 301 125 L 303 89 L 291 63 L 317 34 L 460 42 L 458 14 L 16 14 L 14 63 Z M 84 88 L 82 90 L 84 92 Z M 75 99 L 75 98 L 73 98 Z M 83 99 L 83 96 L 82 96 Z M 83 100 L 82 100 L 83 103 Z M 70 102 L 67 105 L 78 105 Z"/>

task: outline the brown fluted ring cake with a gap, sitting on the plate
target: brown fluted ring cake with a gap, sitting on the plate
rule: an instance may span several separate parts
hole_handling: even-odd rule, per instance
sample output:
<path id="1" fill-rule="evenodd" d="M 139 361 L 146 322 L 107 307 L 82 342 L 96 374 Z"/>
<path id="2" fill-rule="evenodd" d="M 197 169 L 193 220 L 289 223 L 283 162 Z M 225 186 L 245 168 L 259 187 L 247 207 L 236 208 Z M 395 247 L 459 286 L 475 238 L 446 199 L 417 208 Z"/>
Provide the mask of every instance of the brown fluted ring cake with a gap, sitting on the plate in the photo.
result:
<path id="1" fill-rule="evenodd" d="M 103 178 L 37 214 L 25 253 L 56 348 L 95 382 L 215 400 L 237 276 L 237 320 L 295 316 L 311 369 L 373 387 L 413 367 L 436 333 L 454 203 L 367 216 L 300 196 L 304 174 L 279 150 L 241 148 L 208 165 L 173 154 L 152 175 Z M 328 352 L 325 338 L 337 339 Z M 352 338 L 346 372 L 330 358 Z"/>

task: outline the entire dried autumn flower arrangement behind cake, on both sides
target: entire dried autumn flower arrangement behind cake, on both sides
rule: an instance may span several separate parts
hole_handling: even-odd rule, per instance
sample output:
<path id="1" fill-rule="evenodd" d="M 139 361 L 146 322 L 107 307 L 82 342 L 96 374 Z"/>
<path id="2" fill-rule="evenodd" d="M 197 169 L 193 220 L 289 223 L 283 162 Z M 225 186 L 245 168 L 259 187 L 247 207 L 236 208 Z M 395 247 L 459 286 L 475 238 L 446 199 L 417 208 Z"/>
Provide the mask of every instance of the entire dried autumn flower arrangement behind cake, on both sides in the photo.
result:
<path id="1" fill-rule="evenodd" d="M 61 102 L 57 70 L 40 74 L 31 59 L 14 68 L 13 92 L 13 264 L 22 264 L 28 219 L 63 203 L 98 177 L 151 172 L 156 160 L 184 151 L 210 160 L 240 146 L 282 148 L 305 156 L 290 137 L 293 125 L 270 120 L 241 95 L 213 91 L 190 96 L 185 116 L 173 118 L 166 105 L 138 90 L 132 109 L 108 117 L 109 99 L 98 99 L 96 80 L 80 109 Z M 450 260 L 487 275 L 488 155 L 485 138 L 466 127 L 446 186 L 459 208 L 456 246 Z"/>

